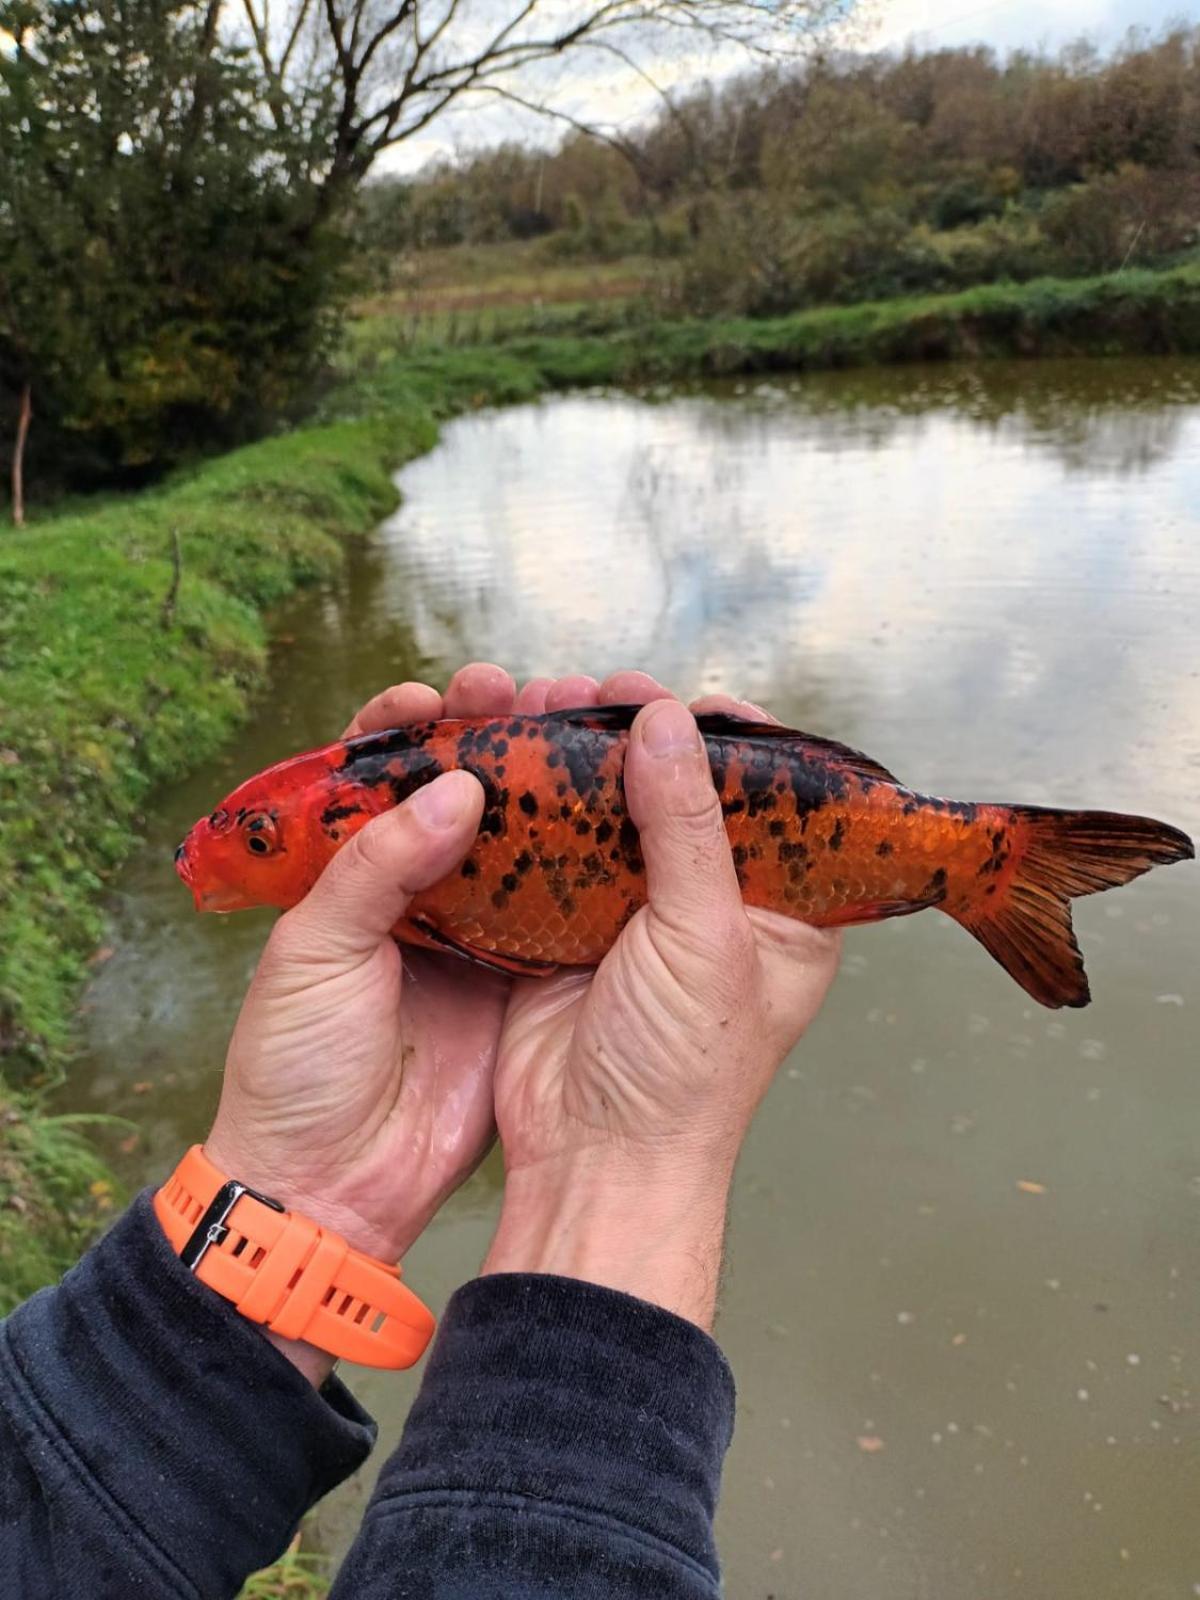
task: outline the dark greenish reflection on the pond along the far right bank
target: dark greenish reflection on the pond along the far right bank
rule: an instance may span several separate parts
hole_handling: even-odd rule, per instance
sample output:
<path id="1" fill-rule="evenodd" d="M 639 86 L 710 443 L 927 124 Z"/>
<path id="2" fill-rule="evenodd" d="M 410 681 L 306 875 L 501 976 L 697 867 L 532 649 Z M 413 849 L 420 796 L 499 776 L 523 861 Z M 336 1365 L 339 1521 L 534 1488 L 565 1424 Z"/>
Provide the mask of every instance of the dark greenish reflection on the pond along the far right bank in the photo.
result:
<path id="1" fill-rule="evenodd" d="M 1144 360 L 872 366 L 698 386 L 696 394 L 739 397 L 736 406 L 714 406 L 717 432 L 744 432 L 755 418 L 789 411 L 805 419 L 818 448 L 840 450 L 885 445 L 914 421 L 950 416 L 1046 451 L 1070 472 L 1123 477 L 1171 454 L 1200 402 L 1200 371 Z"/>

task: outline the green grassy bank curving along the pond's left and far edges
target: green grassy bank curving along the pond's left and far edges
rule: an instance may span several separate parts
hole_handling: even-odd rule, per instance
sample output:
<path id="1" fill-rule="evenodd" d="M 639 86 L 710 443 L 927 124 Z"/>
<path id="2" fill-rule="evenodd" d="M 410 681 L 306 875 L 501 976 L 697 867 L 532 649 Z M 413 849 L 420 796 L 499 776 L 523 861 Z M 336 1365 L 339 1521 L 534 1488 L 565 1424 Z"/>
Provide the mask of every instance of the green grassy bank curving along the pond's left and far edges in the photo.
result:
<path id="1" fill-rule="evenodd" d="M 149 790 L 205 760 L 243 715 L 262 674 L 264 608 L 333 570 L 342 539 L 392 507 L 392 469 L 434 443 L 438 418 L 581 384 L 1200 352 L 1200 269 L 758 322 L 662 322 L 645 307 L 622 317 L 605 336 L 518 331 L 474 349 L 413 349 L 395 318 L 376 317 L 354 331 L 323 426 L 0 534 L 0 1082 L 18 1096 L 0 1106 L 19 1118 L 11 1126 L 34 1126 L 21 1096 L 67 1061 L 99 893 L 136 840 Z M 99 1179 L 69 1155 L 74 1130 L 54 1139 L 53 1160 L 35 1158 L 37 1142 L 3 1141 L 5 1283 L 32 1286 L 94 1222 Z M 37 1174 L 56 1163 L 74 1182 L 48 1189 Z"/>

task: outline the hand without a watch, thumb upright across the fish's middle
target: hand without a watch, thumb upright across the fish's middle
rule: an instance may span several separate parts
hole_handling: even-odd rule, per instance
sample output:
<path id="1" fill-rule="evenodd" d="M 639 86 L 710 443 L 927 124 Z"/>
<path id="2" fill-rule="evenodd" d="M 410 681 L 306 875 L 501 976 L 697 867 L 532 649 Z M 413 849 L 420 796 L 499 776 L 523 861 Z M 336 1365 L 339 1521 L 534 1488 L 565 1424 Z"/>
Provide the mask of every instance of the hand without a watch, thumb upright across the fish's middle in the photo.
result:
<path id="1" fill-rule="evenodd" d="M 600 698 L 634 698 L 629 677 Z M 696 709 L 765 715 L 726 699 Z M 704 744 L 674 701 L 634 723 L 626 802 L 648 904 L 595 974 L 523 981 L 509 1002 L 496 1067 L 507 1179 L 483 1270 L 581 1277 L 709 1326 L 738 1150 L 824 1000 L 840 939 L 744 907 Z"/>

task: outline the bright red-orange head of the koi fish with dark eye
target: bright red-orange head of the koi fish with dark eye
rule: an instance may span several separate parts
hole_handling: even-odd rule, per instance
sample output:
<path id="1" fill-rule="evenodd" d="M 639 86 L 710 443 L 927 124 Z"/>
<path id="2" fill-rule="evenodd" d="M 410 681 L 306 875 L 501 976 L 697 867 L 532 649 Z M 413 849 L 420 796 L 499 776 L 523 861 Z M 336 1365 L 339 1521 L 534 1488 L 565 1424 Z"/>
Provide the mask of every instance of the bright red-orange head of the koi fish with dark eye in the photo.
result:
<path id="1" fill-rule="evenodd" d="M 197 910 L 298 904 L 320 874 L 309 811 L 320 781 L 317 757 L 296 757 L 248 779 L 194 824 L 174 870 Z"/>

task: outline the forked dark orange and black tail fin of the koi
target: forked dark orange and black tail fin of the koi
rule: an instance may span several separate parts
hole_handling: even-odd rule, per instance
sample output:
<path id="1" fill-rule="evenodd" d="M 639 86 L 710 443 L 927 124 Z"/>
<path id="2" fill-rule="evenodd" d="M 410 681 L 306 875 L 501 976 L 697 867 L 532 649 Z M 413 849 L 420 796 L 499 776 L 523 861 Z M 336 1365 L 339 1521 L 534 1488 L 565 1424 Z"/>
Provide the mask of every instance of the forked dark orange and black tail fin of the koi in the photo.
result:
<path id="1" fill-rule="evenodd" d="M 1070 901 L 1130 883 L 1150 867 L 1187 861 L 1195 854 L 1192 840 L 1166 822 L 1112 811 L 1013 806 L 1011 818 L 1024 840 L 1016 877 L 958 922 L 1042 1005 L 1086 1005 L 1091 990 Z"/>

